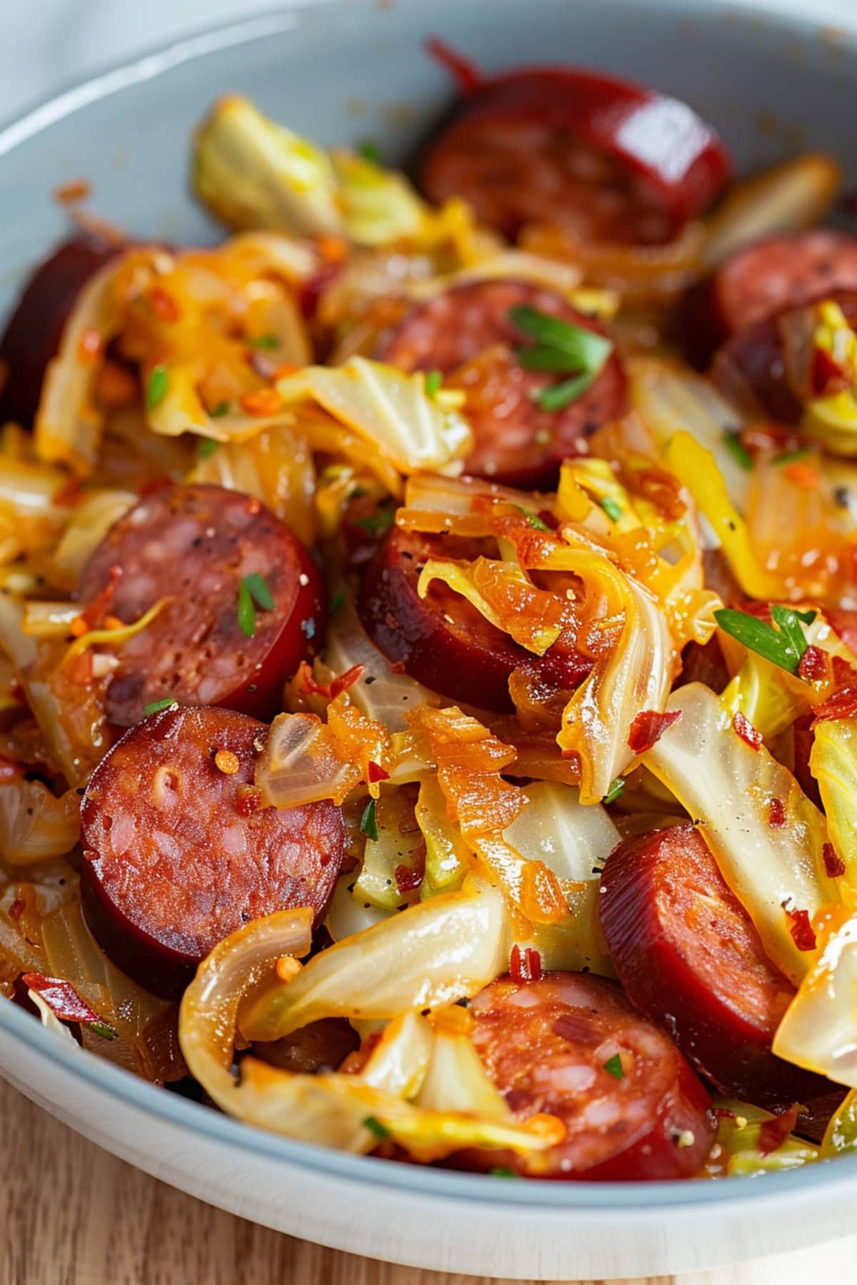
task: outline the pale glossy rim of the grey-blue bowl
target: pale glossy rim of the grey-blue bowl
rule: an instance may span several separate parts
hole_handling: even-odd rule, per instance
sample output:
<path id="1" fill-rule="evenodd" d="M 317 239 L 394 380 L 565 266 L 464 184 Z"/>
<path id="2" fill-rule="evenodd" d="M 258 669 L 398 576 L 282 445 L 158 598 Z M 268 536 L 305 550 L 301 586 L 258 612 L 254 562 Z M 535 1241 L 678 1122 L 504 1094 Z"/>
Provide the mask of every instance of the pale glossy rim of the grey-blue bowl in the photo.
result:
<path id="1" fill-rule="evenodd" d="M 416 8 L 420 0 L 400 0 L 400 5 Z M 686 0 L 626 0 L 641 9 L 659 9 L 686 14 Z M 112 94 L 168 73 L 184 63 L 254 41 L 283 35 L 303 24 L 324 21 L 325 9 L 342 5 L 342 0 L 298 0 L 280 10 L 265 10 L 245 18 L 204 27 L 188 36 L 161 44 L 149 50 L 75 80 L 58 93 L 54 91 L 35 105 L 0 123 L 0 158 L 30 139 L 49 130 L 51 125 L 75 114 L 82 108 L 109 98 Z M 365 8 L 375 12 L 374 0 L 351 0 L 349 10 Z M 762 21 L 772 30 L 790 36 L 821 39 L 829 23 L 818 22 L 807 13 L 777 12 L 757 5 L 708 0 L 707 13 L 748 22 Z M 857 24 L 838 31 L 838 48 L 857 57 Z M 114 1065 L 77 1043 L 60 1040 L 44 1027 L 37 1018 L 13 1002 L 0 1002 L 0 1034 L 5 1034 L 27 1050 L 53 1063 L 76 1079 L 85 1081 L 136 1112 L 168 1122 L 209 1142 L 251 1153 L 265 1160 L 280 1160 L 303 1167 L 316 1174 L 352 1183 L 371 1183 L 375 1187 L 393 1187 L 398 1195 L 434 1200 L 469 1201 L 481 1205 L 502 1205 L 543 1214 L 568 1217 L 581 1210 L 587 1217 L 622 1214 L 640 1216 L 653 1212 L 678 1212 L 684 1209 L 711 1209 L 727 1212 L 740 1207 L 745 1210 L 752 1201 L 757 1210 L 761 1204 L 781 1203 L 800 1192 L 821 1192 L 831 1183 L 839 1189 L 848 1181 L 857 1187 L 856 1158 L 842 1156 L 803 1168 L 757 1177 L 732 1177 L 727 1181 L 687 1182 L 490 1182 L 488 1174 L 459 1173 L 427 1165 L 400 1164 L 371 1155 L 337 1151 L 312 1142 L 299 1142 L 283 1135 L 248 1126 L 239 1119 L 221 1114 L 179 1094 L 149 1083 Z M 1 1073 L 0 1065 L 0 1073 Z"/>

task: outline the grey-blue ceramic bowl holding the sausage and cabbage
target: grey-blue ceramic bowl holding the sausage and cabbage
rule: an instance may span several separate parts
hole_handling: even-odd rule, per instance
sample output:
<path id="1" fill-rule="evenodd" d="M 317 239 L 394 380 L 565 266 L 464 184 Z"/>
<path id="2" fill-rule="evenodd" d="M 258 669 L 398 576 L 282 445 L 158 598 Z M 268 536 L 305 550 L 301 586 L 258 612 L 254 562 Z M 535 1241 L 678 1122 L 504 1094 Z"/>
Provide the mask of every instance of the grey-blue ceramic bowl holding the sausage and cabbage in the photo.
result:
<path id="1" fill-rule="evenodd" d="M 695 0 L 328 0 L 184 40 L 45 103 L 0 131 L 0 311 L 64 233 L 50 199 L 86 177 L 105 218 L 204 243 L 189 137 L 235 90 L 320 143 L 403 157 L 450 93 L 423 49 L 439 33 L 487 68 L 577 63 L 690 102 L 740 168 L 800 148 L 857 180 L 857 37 Z M 729 1182 L 500 1181 L 290 1142 L 109 1065 L 0 1004 L 0 1072 L 87 1137 L 270 1227 L 400 1263 L 518 1279 L 648 1276 L 784 1252 L 853 1231 L 857 1162 Z"/>

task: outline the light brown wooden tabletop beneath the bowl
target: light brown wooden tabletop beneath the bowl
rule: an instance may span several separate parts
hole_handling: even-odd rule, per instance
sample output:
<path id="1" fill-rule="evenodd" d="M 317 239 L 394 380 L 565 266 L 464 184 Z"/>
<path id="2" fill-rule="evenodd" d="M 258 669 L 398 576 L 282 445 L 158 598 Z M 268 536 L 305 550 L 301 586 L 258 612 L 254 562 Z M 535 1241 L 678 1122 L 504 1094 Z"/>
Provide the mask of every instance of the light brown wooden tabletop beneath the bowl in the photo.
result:
<path id="1" fill-rule="evenodd" d="M 856 1268 L 853 1237 L 659 1282 L 845 1285 Z M 475 1285 L 475 1279 L 339 1254 L 221 1213 L 114 1159 L 0 1081 L 0 1285 L 468 1282 Z M 649 1277 L 628 1285 L 657 1282 Z"/>

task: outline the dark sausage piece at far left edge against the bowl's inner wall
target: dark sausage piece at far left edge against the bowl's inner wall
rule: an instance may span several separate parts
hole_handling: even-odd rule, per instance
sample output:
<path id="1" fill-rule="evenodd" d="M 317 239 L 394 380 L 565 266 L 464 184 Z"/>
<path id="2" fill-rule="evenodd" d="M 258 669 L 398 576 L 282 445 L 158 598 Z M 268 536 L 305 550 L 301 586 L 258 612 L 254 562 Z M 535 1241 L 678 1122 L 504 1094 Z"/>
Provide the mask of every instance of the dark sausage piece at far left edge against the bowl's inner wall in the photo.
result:
<path id="1" fill-rule="evenodd" d="M 45 370 L 57 356 L 63 326 L 81 288 L 122 247 L 93 233 L 63 242 L 28 278 L 3 339 L 0 362 L 0 423 L 10 419 L 26 428 L 39 409 Z"/>

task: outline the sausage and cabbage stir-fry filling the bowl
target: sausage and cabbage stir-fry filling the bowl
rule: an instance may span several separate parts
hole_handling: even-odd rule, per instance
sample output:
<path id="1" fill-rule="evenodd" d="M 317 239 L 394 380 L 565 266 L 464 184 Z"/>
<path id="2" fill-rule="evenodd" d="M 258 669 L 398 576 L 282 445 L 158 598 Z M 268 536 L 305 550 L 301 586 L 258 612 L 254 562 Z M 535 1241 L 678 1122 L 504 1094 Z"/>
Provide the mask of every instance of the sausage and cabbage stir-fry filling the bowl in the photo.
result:
<path id="1" fill-rule="evenodd" d="M 835 162 L 482 77 L 414 180 L 222 99 L 216 248 L 1 344 L 0 977 L 248 1124 L 499 1177 L 853 1145 Z M 857 323 L 854 323 L 857 324 Z"/>

